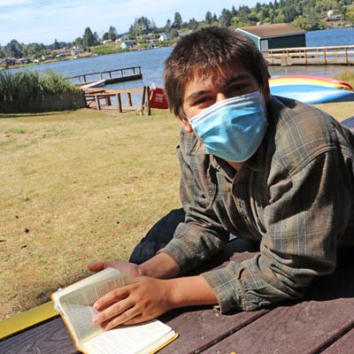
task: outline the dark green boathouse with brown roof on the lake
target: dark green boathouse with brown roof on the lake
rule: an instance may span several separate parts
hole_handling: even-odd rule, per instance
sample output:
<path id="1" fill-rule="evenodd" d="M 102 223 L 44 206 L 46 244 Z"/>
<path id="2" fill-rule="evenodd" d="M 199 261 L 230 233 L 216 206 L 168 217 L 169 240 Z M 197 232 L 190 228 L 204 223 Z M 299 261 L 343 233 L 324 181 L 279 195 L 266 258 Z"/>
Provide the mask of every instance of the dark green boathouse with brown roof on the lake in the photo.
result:
<path id="1" fill-rule="evenodd" d="M 306 31 L 286 23 L 236 28 L 249 37 L 259 50 L 295 48 L 306 46 Z"/>

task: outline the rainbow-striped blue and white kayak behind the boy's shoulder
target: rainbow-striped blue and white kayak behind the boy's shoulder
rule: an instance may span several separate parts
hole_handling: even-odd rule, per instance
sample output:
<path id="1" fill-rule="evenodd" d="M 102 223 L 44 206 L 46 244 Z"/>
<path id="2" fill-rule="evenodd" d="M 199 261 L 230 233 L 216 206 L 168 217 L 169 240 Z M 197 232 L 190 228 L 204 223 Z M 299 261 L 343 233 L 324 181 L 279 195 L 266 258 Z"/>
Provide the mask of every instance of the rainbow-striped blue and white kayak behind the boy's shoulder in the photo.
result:
<path id="1" fill-rule="evenodd" d="M 305 104 L 354 101 L 348 82 L 314 75 L 274 76 L 269 79 L 272 95 L 293 98 Z"/>

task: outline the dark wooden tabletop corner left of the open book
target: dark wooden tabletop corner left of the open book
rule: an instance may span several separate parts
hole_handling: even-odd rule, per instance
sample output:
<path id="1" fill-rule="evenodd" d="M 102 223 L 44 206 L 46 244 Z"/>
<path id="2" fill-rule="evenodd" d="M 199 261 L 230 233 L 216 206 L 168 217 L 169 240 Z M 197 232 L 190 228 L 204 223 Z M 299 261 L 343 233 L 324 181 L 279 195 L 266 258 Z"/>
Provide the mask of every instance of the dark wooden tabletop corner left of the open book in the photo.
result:
<path id="1" fill-rule="evenodd" d="M 52 319 L 0 342 L 1 354 L 76 354 L 78 350 L 62 319 Z"/>

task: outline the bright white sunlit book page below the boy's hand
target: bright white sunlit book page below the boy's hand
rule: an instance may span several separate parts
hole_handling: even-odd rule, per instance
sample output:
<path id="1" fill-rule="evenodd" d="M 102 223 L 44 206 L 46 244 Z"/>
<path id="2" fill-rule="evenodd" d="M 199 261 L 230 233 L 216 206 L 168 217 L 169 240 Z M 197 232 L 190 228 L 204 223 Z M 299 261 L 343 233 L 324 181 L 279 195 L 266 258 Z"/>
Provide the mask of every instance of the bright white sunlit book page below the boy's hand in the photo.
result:
<path id="1" fill-rule="evenodd" d="M 85 342 L 83 349 L 92 354 L 149 353 L 168 342 L 174 335 L 171 327 L 155 319 L 103 332 Z"/>

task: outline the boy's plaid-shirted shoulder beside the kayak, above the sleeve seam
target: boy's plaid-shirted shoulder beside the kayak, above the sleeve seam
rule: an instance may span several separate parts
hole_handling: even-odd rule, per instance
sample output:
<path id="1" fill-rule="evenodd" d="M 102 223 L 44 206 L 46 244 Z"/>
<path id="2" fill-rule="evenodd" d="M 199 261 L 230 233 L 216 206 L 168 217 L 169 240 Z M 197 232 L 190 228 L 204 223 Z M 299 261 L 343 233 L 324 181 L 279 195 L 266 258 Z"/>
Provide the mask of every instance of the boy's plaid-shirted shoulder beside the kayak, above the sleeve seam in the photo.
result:
<path id="1" fill-rule="evenodd" d="M 296 169 L 320 153 L 342 148 L 352 150 L 349 130 L 326 112 L 296 100 L 274 96 L 269 107 L 274 158 Z"/>

